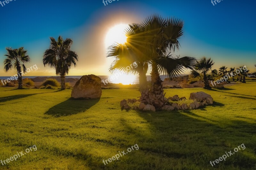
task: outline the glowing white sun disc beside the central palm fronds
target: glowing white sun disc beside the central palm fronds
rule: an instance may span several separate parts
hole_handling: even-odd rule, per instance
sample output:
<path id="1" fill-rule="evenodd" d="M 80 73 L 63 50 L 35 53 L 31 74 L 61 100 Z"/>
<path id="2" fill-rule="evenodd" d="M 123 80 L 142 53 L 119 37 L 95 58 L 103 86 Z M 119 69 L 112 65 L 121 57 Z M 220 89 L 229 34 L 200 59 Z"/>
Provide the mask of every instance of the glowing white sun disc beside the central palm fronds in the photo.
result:
<path id="1" fill-rule="evenodd" d="M 127 39 L 124 31 L 127 27 L 128 24 L 118 24 L 110 28 L 105 39 L 106 46 L 109 47 L 115 43 L 124 44 Z"/>

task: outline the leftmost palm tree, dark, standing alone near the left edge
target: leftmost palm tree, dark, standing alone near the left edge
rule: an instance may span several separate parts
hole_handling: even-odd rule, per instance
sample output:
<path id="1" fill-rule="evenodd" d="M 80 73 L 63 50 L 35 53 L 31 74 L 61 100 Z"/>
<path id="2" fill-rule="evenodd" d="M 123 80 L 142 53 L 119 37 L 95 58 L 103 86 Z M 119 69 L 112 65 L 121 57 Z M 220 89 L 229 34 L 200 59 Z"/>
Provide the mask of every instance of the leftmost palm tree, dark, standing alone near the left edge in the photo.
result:
<path id="1" fill-rule="evenodd" d="M 19 49 L 6 48 L 6 50 L 7 55 L 5 56 L 7 56 L 7 58 L 4 60 L 4 70 L 8 72 L 9 70 L 12 70 L 12 68 L 16 68 L 19 82 L 18 89 L 22 89 L 21 65 L 23 67 L 23 72 L 25 73 L 27 69 L 24 63 L 30 62 L 30 58 L 23 47 L 20 47 Z"/>

